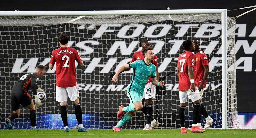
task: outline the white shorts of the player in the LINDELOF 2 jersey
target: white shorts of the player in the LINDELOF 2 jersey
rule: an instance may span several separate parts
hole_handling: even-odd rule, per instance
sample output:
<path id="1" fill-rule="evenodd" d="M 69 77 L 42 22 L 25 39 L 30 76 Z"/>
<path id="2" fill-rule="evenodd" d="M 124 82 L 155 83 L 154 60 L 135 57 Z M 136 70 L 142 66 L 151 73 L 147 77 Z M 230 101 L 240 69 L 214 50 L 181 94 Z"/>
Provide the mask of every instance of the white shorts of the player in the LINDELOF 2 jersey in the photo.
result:
<path id="1" fill-rule="evenodd" d="M 78 87 L 72 86 L 72 87 L 58 87 L 56 86 L 56 101 L 58 102 L 64 102 L 68 100 L 68 97 L 70 101 L 76 101 L 77 97 L 79 97 L 79 91 Z"/>

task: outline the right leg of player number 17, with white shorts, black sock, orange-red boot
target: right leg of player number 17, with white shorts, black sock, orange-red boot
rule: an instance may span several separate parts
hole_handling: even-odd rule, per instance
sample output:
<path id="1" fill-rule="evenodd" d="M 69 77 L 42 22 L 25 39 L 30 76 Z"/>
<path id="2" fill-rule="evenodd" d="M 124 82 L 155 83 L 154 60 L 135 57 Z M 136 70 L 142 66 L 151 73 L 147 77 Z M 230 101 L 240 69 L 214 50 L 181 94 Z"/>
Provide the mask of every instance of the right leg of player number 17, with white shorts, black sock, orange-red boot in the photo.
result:
<path id="1" fill-rule="evenodd" d="M 199 118 L 200 115 L 200 110 L 201 110 L 201 102 L 200 102 L 200 95 L 199 95 L 199 90 L 196 87 L 196 91 L 195 92 L 191 92 L 190 90 L 187 92 L 188 94 L 188 98 L 192 100 L 192 103 L 194 105 L 193 108 L 193 124 L 192 127 L 190 129 L 190 132 L 197 132 L 197 133 L 203 133 L 204 130 L 200 129 L 197 126 L 197 120 Z"/>

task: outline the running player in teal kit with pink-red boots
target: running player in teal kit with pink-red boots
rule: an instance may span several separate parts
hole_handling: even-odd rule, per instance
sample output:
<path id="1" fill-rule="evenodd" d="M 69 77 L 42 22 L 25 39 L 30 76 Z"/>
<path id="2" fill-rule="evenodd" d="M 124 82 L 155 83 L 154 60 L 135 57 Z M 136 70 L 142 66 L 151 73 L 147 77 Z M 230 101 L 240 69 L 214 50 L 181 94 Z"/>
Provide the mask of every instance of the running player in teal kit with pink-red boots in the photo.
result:
<path id="1" fill-rule="evenodd" d="M 127 96 L 130 99 L 130 104 L 126 107 L 123 105 L 119 106 L 117 118 L 121 120 L 117 123 L 116 126 L 113 127 L 113 131 L 121 131 L 120 127 L 129 121 L 131 117 L 136 113 L 136 111 L 139 111 L 143 107 L 141 97 L 143 95 L 146 82 L 148 81 L 148 77 L 151 76 L 152 83 L 154 85 L 164 85 L 164 81 L 158 82 L 156 80 L 156 66 L 151 63 L 151 61 L 154 59 L 153 48 L 145 48 L 142 51 L 142 54 L 144 56 L 144 60 L 137 60 L 130 64 L 122 65 L 112 78 L 113 82 L 117 83 L 117 76 L 119 73 L 129 68 L 133 68 L 132 81 L 127 87 Z M 124 112 L 127 113 L 124 114 Z"/>

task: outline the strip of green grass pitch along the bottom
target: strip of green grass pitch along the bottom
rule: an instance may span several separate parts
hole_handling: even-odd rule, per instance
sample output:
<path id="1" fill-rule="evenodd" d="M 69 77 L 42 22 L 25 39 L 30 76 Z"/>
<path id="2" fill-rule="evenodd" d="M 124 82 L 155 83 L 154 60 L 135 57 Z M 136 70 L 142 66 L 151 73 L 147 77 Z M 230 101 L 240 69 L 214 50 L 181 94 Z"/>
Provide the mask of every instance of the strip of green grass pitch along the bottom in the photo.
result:
<path id="1" fill-rule="evenodd" d="M 189 131 L 188 131 L 189 132 Z M 143 131 L 141 129 L 122 129 L 114 132 L 111 129 L 89 129 L 89 132 L 78 132 L 70 129 L 63 130 L 0 130 L 0 138 L 256 138 L 256 130 L 248 129 L 208 129 L 205 133 L 180 134 L 180 129 L 154 129 Z"/>

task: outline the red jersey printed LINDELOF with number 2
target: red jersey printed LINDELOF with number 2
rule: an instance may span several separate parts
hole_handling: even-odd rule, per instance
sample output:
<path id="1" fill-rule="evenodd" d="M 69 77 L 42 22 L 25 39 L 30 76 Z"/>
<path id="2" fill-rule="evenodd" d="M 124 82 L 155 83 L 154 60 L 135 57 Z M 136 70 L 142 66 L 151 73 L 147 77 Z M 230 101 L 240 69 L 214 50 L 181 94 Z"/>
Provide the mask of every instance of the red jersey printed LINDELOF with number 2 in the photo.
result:
<path id="1" fill-rule="evenodd" d="M 56 62 L 56 85 L 59 87 L 76 86 L 76 65 L 75 60 L 82 61 L 74 48 L 60 47 L 52 51 L 50 64 Z"/>

